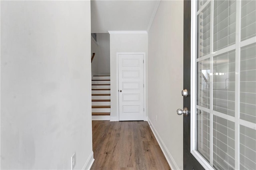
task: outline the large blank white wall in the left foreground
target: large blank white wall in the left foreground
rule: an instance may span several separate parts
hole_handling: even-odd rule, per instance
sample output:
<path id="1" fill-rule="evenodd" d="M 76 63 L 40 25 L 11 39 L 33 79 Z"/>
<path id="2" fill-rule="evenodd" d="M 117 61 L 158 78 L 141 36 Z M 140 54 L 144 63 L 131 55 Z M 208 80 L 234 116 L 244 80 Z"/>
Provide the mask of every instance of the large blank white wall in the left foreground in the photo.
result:
<path id="1" fill-rule="evenodd" d="M 90 1 L 1 2 L 1 169 L 92 154 Z"/>

